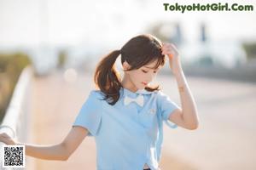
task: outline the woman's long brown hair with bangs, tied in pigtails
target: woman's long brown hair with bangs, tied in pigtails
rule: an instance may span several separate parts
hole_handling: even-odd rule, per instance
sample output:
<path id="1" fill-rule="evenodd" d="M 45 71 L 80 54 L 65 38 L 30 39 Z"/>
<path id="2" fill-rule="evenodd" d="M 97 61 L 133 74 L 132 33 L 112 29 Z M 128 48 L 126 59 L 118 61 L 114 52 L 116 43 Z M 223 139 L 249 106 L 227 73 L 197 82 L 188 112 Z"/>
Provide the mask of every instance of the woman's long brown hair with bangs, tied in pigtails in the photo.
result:
<path id="1" fill-rule="evenodd" d="M 122 88 L 119 72 L 115 68 L 115 60 L 121 54 L 121 63 L 125 61 L 131 65 L 127 71 L 136 70 L 143 65 L 148 65 L 157 60 L 154 69 L 165 64 L 165 55 L 161 54 L 161 42 L 152 35 L 139 35 L 131 38 L 120 50 L 114 50 L 110 54 L 103 57 L 96 67 L 94 80 L 96 86 L 100 88 L 105 95 L 105 100 L 109 105 L 114 105 L 119 99 L 119 90 Z M 152 92 L 159 90 L 157 87 L 145 88 Z"/>

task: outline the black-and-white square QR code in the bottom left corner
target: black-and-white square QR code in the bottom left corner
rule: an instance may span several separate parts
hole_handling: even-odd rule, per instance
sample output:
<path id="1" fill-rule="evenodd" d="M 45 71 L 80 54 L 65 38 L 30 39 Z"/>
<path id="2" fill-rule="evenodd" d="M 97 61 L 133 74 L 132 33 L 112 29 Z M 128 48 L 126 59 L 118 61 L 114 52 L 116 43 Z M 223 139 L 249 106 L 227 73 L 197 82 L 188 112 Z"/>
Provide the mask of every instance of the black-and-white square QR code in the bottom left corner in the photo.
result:
<path id="1" fill-rule="evenodd" d="M 25 167 L 25 146 L 3 145 L 3 167 Z"/>

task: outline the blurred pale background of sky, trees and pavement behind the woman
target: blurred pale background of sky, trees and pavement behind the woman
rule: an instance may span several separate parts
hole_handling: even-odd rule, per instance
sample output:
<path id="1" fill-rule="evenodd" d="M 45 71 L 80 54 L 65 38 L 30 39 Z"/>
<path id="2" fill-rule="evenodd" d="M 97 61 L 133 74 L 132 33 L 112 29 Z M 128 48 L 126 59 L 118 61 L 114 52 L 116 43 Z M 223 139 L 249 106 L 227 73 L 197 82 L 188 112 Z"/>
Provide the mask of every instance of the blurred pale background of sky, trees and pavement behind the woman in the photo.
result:
<path id="1" fill-rule="evenodd" d="M 32 127 L 23 132 L 29 138 L 21 139 L 33 144 L 61 142 L 95 88 L 93 72 L 102 56 L 131 37 L 150 33 L 177 46 L 201 121 L 195 131 L 165 129 L 160 167 L 255 169 L 256 10 L 182 14 L 165 11 L 163 3 L 172 2 L 0 0 L 0 121 L 21 71 L 31 65 L 28 107 L 23 112 L 29 113 Z M 256 5 L 255 0 L 232 3 Z M 121 71 L 119 59 L 116 64 Z M 155 82 L 181 105 L 168 63 Z M 26 169 L 96 169 L 95 152 L 94 140 L 88 138 L 68 161 L 27 157 Z"/>

